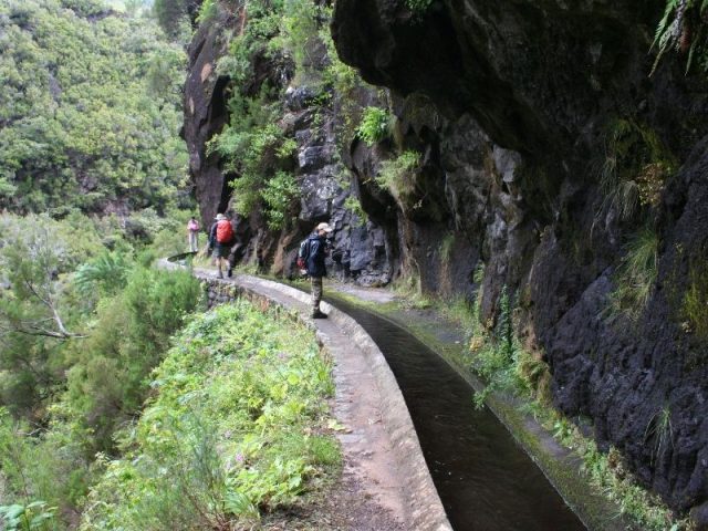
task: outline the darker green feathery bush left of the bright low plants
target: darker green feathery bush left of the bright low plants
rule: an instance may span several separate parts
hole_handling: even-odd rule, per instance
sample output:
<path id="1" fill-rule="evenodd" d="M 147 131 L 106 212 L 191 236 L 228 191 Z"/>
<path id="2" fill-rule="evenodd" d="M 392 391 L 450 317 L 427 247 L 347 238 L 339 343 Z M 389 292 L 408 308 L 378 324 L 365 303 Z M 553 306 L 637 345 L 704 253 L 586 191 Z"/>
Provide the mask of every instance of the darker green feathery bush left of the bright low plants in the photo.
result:
<path id="1" fill-rule="evenodd" d="M 116 426 L 138 410 L 149 371 L 199 296 L 189 272 L 136 267 L 125 290 L 100 301 L 88 337 L 66 354 L 64 396 L 71 415 L 92 429 L 97 450 L 112 449 Z"/>

